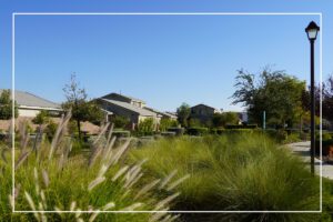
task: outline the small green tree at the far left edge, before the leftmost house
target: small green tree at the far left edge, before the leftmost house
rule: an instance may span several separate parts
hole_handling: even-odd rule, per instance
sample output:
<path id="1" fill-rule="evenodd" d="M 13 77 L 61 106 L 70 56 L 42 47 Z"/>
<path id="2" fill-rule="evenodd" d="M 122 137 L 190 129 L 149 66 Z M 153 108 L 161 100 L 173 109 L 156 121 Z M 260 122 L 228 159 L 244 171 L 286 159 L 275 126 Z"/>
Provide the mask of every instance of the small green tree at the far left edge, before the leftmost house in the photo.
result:
<path id="1" fill-rule="evenodd" d="M 17 102 L 14 102 L 14 118 L 19 115 Z M 3 90 L 0 95 L 0 120 L 9 120 L 12 117 L 12 100 L 10 90 Z"/>

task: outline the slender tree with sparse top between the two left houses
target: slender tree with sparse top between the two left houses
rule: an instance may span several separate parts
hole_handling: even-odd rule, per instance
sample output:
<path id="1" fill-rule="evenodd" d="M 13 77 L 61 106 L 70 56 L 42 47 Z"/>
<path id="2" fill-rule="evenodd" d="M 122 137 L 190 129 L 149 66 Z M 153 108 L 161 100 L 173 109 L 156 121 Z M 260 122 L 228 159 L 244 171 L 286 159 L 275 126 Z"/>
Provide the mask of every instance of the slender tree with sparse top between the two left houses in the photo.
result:
<path id="1" fill-rule="evenodd" d="M 88 95 L 83 88 L 79 87 L 75 74 L 71 74 L 71 81 L 63 88 L 67 101 L 62 104 L 64 110 L 71 110 L 72 120 L 77 122 L 79 139 L 81 139 L 81 121 L 100 123 L 103 113 L 95 102 L 89 102 Z"/>

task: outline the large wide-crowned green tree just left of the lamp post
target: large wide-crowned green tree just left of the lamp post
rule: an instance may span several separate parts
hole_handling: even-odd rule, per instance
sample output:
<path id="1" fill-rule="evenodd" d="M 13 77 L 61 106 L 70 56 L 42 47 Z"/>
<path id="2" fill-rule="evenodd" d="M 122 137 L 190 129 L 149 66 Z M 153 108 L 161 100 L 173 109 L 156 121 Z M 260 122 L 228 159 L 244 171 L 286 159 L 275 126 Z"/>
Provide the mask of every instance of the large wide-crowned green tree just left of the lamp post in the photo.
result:
<path id="1" fill-rule="evenodd" d="M 255 81 L 254 74 L 240 70 L 235 88 L 233 104 L 243 103 L 251 121 L 262 125 L 264 111 L 268 123 L 274 127 L 292 127 L 299 121 L 305 81 L 269 68 Z"/>

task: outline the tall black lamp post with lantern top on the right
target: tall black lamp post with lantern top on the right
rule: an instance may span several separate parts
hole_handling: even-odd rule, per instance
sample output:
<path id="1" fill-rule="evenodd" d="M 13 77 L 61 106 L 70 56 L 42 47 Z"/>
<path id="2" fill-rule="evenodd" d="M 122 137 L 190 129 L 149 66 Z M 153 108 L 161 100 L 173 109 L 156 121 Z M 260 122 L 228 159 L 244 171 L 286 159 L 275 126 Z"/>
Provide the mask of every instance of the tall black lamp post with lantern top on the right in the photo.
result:
<path id="1" fill-rule="evenodd" d="M 320 28 L 316 26 L 314 21 L 310 22 L 309 26 L 305 29 L 305 32 L 307 33 L 307 39 L 310 40 L 311 46 L 311 173 L 314 174 L 314 155 L 315 155 L 315 139 L 314 139 L 314 129 L 315 129 L 315 122 L 314 122 L 314 112 L 315 112 L 315 101 L 314 101 L 314 41 L 316 39 L 317 32 Z"/>

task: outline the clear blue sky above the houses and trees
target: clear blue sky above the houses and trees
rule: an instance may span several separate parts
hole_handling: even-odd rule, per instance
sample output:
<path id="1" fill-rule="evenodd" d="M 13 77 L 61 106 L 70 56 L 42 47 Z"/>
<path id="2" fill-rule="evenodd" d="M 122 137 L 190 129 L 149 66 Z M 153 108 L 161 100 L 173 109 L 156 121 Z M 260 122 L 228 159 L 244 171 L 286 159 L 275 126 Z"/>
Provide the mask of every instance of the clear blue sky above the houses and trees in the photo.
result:
<path id="1" fill-rule="evenodd" d="M 333 3 L 272 1 L 0 2 L 0 88 L 11 87 L 12 12 L 322 12 L 323 78 L 333 72 Z M 319 16 L 17 16 L 16 89 L 64 100 L 77 73 L 90 98 L 120 92 L 175 111 L 231 105 L 236 70 L 266 65 L 309 82 L 307 23 Z M 316 42 L 316 52 L 320 44 Z M 319 53 L 316 53 L 319 80 Z"/>

